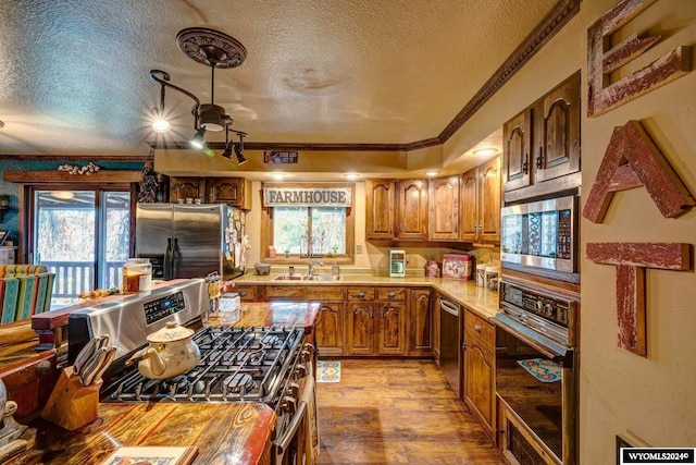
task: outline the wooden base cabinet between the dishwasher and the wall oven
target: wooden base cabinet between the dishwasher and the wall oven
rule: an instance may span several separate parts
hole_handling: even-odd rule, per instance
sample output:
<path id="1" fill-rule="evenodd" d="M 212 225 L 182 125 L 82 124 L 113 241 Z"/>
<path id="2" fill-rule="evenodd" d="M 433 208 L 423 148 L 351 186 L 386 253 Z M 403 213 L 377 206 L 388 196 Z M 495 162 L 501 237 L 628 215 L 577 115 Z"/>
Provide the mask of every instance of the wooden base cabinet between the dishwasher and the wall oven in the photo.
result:
<path id="1" fill-rule="evenodd" d="M 464 309 L 464 403 L 496 441 L 495 328 Z"/>

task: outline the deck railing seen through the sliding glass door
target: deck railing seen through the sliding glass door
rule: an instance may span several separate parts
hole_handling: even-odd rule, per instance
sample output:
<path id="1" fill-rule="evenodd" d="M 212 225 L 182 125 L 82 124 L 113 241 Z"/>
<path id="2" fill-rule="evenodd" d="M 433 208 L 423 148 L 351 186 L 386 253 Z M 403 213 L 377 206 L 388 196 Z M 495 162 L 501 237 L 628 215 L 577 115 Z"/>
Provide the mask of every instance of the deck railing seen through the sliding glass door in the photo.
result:
<path id="1" fill-rule="evenodd" d="M 102 287 L 121 287 L 123 261 L 107 261 L 105 284 Z M 77 297 L 95 289 L 95 264 L 92 261 L 41 261 L 55 273 L 53 297 Z"/>

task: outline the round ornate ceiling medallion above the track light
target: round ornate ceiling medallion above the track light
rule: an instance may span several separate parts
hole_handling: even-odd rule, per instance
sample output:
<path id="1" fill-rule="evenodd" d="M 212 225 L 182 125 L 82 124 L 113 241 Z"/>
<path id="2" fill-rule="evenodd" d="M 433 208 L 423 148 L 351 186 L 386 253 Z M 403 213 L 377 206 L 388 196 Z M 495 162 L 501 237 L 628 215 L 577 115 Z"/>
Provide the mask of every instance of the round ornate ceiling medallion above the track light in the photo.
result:
<path id="1" fill-rule="evenodd" d="M 247 49 L 237 39 L 207 27 L 181 30 L 176 45 L 189 58 L 207 66 L 237 68 L 247 60 Z M 214 60 L 210 60 L 211 56 Z"/>

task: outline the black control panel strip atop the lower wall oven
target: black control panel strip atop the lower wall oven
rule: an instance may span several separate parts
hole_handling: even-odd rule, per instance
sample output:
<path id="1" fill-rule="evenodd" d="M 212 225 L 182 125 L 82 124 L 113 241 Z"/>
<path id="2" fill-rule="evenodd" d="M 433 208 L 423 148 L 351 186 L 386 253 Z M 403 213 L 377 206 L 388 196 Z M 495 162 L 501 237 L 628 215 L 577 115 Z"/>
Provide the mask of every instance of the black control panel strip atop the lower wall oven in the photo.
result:
<path id="1" fill-rule="evenodd" d="M 555 296 L 533 292 L 509 283 L 502 284 L 502 301 L 518 309 L 538 315 L 563 328 L 568 328 L 574 303 Z"/>

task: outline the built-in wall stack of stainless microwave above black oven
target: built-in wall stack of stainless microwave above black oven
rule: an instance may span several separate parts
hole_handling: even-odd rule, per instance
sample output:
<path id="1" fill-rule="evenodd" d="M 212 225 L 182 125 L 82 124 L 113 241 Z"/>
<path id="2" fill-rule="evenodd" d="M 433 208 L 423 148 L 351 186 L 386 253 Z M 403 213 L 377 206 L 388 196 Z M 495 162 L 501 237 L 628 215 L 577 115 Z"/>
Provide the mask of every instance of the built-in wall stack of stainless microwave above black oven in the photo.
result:
<path id="1" fill-rule="evenodd" d="M 498 441 L 512 464 L 577 463 L 579 197 L 501 209 Z"/>

